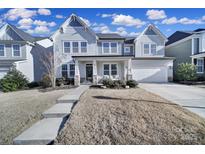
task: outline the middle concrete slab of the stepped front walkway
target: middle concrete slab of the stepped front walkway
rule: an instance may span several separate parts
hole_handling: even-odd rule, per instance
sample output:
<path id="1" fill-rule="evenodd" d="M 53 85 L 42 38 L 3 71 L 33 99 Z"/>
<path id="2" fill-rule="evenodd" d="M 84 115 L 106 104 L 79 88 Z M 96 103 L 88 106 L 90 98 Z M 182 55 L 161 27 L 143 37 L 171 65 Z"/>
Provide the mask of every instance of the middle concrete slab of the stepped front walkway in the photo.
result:
<path id="1" fill-rule="evenodd" d="M 63 118 L 71 113 L 72 103 L 58 103 L 46 110 L 42 115 L 44 118 Z"/>

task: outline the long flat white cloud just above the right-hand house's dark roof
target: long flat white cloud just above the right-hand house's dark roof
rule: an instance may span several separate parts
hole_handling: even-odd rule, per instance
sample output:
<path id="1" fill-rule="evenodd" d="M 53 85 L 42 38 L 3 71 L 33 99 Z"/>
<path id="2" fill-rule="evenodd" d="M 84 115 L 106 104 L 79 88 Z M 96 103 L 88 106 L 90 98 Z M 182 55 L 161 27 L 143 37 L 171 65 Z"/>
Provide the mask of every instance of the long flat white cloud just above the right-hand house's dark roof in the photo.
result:
<path id="1" fill-rule="evenodd" d="M 171 17 L 168 19 L 164 19 L 162 21 L 162 24 L 167 24 L 167 25 L 171 25 L 171 24 L 183 24 L 183 25 L 190 25 L 190 24 L 204 24 L 204 21 L 202 21 L 203 19 L 189 19 L 187 17 L 183 17 L 181 19 L 177 19 L 176 17 Z"/>

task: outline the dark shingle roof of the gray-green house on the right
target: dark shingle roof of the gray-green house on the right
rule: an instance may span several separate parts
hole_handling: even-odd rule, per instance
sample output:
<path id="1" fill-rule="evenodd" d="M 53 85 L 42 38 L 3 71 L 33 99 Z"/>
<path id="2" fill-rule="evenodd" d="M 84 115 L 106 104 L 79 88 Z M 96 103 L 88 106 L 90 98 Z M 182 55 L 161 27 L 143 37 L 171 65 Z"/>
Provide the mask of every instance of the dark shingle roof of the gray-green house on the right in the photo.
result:
<path id="1" fill-rule="evenodd" d="M 190 32 L 184 32 L 184 31 L 176 31 L 174 34 L 172 34 L 170 37 L 168 37 L 168 42 L 166 43 L 167 45 L 170 45 L 174 42 L 177 42 L 181 39 L 184 39 L 188 36 L 191 36 L 193 33 Z"/>

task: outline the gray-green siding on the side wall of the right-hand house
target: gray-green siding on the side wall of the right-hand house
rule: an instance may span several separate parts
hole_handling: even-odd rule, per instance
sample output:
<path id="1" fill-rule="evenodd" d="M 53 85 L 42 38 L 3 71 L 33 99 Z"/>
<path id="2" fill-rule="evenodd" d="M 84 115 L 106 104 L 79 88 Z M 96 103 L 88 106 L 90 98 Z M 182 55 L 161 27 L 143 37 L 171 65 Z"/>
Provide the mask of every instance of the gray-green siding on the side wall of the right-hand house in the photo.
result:
<path id="1" fill-rule="evenodd" d="M 165 55 L 168 57 L 175 57 L 174 60 L 174 73 L 176 71 L 177 65 L 180 63 L 191 63 L 191 40 L 185 41 L 183 43 L 180 43 L 178 45 L 166 48 Z"/>

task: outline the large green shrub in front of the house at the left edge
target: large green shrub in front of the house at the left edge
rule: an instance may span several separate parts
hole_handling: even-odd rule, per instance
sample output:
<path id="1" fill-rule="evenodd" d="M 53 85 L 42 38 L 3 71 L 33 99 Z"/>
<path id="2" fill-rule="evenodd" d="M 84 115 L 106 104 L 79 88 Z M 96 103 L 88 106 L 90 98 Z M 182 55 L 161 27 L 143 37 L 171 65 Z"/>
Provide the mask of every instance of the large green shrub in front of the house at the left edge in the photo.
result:
<path id="1" fill-rule="evenodd" d="M 28 79 L 23 73 L 13 68 L 0 80 L 0 87 L 4 92 L 16 91 L 27 86 Z"/>

